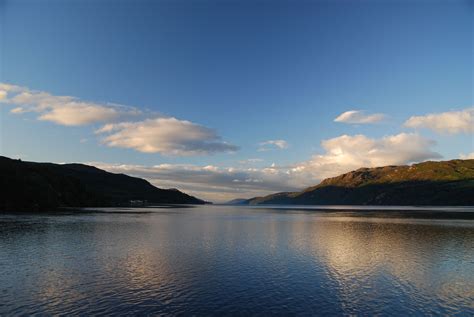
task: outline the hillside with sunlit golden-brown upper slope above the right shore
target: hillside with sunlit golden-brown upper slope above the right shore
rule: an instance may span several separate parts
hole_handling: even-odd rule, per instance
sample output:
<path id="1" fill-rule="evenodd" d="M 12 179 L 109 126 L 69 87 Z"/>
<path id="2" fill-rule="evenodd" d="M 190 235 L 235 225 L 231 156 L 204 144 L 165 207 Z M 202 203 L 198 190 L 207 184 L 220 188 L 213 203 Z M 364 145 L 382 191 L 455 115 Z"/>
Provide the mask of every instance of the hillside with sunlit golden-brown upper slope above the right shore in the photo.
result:
<path id="1" fill-rule="evenodd" d="M 251 198 L 246 204 L 474 206 L 474 160 L 360 168 L 301 192 Z"/>

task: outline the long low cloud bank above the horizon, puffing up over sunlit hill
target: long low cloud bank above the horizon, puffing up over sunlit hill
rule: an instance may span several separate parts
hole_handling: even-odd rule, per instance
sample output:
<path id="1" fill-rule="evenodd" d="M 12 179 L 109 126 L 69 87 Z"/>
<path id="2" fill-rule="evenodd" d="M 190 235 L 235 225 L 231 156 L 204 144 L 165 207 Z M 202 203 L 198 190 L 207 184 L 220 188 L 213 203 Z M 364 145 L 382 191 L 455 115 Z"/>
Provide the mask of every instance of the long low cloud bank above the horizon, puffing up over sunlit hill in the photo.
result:
<path id="1" fill-rule="evenodd" d="M 279 191 L 297 191 L 322 179 L 360 167 L 408 164 L 441 158 L 434 142 L 418 134 L 401 133 L 381 139 L 343 135 L 322 142 L 324 153 L 310 160 L 263 168 L 161 164 L 156 166 L 92 163 L 116 173 L 148 179 L 158 187 L 177 187 L 211 201 L 250 198 Z"/>

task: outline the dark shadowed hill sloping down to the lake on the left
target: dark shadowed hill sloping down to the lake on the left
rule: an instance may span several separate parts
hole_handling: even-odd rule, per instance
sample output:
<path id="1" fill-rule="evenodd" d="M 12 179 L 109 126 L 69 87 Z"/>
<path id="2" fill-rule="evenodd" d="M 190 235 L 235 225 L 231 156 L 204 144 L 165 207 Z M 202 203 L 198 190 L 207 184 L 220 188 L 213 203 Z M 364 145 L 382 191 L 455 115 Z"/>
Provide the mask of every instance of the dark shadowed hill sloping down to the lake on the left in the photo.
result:
<path id="1" fill-rule="evenodd" d="M 0 210 L 58 207 L 204 204 L 176 189 L 160 189 L 144 179 L 113 174 L 83 164 L 33 163 L 0 156 Z"/>

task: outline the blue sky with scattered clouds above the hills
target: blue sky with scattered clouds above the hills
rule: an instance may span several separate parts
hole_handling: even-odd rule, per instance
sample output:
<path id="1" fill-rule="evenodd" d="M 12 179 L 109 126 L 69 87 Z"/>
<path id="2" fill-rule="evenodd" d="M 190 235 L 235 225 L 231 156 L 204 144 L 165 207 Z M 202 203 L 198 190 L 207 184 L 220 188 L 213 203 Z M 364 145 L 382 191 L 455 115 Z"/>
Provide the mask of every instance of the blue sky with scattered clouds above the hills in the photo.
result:
<path id="1" fill-rule="evenodd" d="M 0 154 L 222 202 L 474 158 L 473 1 L 0 0 Z"/>

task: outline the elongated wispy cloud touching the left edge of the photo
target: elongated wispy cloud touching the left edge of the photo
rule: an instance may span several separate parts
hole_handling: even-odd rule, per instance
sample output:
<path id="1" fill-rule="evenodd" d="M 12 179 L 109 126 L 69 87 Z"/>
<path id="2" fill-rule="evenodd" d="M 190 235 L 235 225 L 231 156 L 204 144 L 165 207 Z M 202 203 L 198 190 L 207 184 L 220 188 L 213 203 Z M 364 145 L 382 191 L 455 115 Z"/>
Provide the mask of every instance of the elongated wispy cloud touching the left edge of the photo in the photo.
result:
<path id="1" fill-rule="evenodd" d="M 0 84 L 0 102 L 14 105 L 10 112 L 38 113 L 38 119 L 65 126 L 80 126 L 110 122 L 141 113 L 134 107 L 82 101 L 70 96 L 54 96 L 44 91 L 26 87 Z"/>

